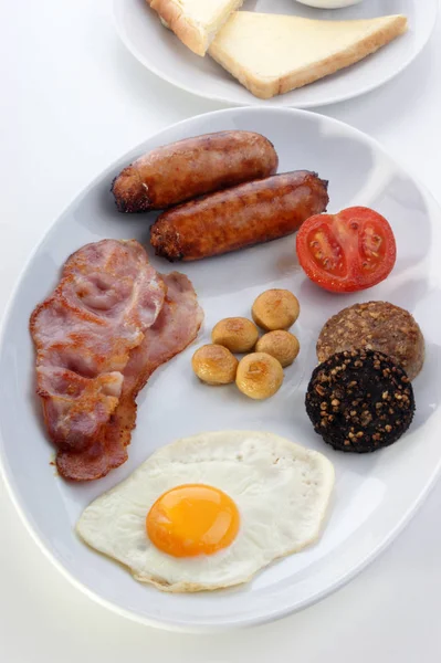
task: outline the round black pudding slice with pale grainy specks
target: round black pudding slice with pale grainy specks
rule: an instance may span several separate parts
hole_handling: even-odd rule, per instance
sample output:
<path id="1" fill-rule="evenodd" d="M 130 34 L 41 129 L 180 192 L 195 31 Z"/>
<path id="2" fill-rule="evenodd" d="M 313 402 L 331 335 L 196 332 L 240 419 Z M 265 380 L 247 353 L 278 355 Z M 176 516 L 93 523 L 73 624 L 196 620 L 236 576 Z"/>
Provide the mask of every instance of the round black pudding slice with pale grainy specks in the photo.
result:
<path id="1" fill-rule="evenodd" d="M 327 444 L 367 453 L 392 444 L 408 430 L 413 390 L 406 371 L 382 352 L 337 352 L 314 370 L 306 412 Z"/>

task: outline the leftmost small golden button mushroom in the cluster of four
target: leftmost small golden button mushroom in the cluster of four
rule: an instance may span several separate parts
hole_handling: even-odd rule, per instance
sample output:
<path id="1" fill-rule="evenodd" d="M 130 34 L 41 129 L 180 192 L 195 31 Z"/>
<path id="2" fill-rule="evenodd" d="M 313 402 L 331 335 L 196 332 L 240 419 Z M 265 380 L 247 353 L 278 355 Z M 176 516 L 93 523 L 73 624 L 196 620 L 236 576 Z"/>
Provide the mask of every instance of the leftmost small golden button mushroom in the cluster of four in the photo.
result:
<path id="1" fill-rule="evenodd" d="M 204 345 L 191 359 L 195 373 L 207 385 L 230 385 L 235 380 L 239 361 L 221 345 Z"/>

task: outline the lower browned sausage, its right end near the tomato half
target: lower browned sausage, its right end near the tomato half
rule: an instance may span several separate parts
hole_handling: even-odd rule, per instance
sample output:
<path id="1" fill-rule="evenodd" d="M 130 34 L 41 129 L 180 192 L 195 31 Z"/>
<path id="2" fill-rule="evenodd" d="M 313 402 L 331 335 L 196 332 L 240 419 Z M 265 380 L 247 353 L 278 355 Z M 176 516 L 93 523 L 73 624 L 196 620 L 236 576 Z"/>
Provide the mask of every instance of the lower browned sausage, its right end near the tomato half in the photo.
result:
<path id="1" fill-rule="evenodd" d="M 200 260 L 291 234 L 328 200 L 327 182 L 315 172 L 276 175 L 162 212 L 150 242 L 170 261 Z"/>

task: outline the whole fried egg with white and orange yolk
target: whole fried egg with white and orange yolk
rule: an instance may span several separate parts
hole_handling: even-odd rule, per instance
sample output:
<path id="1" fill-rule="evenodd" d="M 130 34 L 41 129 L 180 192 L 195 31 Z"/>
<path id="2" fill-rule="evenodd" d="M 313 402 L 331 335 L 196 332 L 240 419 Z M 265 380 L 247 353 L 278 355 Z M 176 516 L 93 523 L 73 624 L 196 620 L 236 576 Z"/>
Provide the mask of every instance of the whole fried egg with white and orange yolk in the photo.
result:
<path id="1" fill-rule="evenodd" d="M 156 451 L 87 506 L 76 530 L 140 582 L 214 590 L 314 544 L 333 485 L 324 455 L 284 438 L 203 433 Z"/>

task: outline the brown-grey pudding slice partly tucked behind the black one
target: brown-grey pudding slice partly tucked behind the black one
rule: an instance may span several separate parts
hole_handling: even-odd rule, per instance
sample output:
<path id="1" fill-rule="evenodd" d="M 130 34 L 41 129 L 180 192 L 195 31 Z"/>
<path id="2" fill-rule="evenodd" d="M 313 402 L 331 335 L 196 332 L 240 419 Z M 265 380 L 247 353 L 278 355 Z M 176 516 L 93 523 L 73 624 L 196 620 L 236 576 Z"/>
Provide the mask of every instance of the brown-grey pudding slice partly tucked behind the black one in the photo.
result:
<path id="1" fill-rule="evenodd" d="M 318 361 L 343 350 L 379 350 L 413 380 L 424 362 L 424 338 L 410 313 L 388 302 L 354 304 L 334 315 L 317 341 Z"/>

